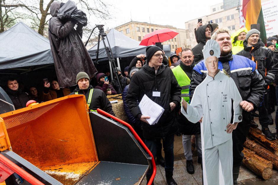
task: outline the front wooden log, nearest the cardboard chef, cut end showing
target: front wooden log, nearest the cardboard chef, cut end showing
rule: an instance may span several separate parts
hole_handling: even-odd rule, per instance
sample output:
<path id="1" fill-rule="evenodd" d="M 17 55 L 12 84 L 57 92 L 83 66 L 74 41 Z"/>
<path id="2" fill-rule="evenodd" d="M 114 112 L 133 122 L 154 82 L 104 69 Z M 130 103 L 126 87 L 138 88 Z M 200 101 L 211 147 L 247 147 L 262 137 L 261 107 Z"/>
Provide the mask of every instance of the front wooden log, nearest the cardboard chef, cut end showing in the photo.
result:
<path id="1" fill-rule="evenodd" d="M 249 168 L 251 171 L 256 173 L 264 180 L 270 179 L 272 176 L 272 169 L 269 161 L 256 155 L 254 152 L 244 148 L 243 151 L 243 165 Z M 272 163 L 271 163 L 272 164 Z"/>

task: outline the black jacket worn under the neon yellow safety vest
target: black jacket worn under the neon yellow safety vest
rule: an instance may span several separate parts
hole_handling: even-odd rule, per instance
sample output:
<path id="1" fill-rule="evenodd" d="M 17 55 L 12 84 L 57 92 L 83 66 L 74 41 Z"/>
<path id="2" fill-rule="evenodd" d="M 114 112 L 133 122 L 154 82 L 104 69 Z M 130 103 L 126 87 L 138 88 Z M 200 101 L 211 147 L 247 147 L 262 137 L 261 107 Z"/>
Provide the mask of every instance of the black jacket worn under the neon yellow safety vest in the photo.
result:
<path id="1" fill-rule="evenodd" d="M 189 79 L 191 79 L 192 77 L 194 66 L 195 66 L 194 61 L 191 66 L 186 66 L 182 62 L 180 63 L 180 67 L 186 73 Z M 188 119 L 183 114 L 177 114 L 177 121 L 178 121 L 180 132 L 183 135 L 201 134 L 200 122 L 192 123 L 188 121 Z"/>

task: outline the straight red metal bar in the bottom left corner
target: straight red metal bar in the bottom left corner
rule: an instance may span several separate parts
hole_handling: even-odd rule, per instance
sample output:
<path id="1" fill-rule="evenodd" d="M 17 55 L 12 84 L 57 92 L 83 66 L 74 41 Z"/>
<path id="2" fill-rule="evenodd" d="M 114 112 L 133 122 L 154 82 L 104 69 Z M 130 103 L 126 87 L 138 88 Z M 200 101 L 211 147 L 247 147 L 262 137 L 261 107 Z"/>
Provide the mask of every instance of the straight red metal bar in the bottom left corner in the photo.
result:
<path id="1" fill-rule="evenodd" d="M 12 171 L 17 173 L 20 177 L 28 181 L 30 184 L 34 185 L 43 185 L 41 181 L 30 175 L 27 171 L 23 170 L 16 164 L 14 164 L 12 161 L 10 161 L 8 158 L 6 158 L 4 155 L 0 155 L 0 162 L 6 165 L 8 168 L 10 168 Z"/>

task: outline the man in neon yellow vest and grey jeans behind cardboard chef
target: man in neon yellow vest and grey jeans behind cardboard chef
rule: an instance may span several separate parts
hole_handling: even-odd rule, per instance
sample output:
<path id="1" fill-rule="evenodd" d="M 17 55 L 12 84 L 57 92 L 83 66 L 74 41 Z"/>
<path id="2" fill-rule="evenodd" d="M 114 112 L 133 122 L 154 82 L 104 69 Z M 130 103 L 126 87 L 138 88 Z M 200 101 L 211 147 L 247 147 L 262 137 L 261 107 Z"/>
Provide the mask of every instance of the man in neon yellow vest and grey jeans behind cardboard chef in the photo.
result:
<path id="1" fill-rule="evenodd" d="M 195 66 L 193 61 L 194 55 L 192 50 L 186 48 L 180 53 L 180 65 L 172 69 L 179 85 L 181 86 L 181 96 L 189 103 L 189 86 L 192 77 L 192 71 Z M 201 125 L 198 123 L 191 123 L 188 119 L 180 114 L 178 117 L 178 124 L 180 132 L 182 133 L 182 145 L 184 155 L 186 158 L 186 170 L 188 173 L 194 173 L 194 166 L 192 160 L 191 150 L 191 135 L 195 135 L 196 148 L 198 151 L 198 163 L 202 163 L 202 148 L 201 148 Z"/>

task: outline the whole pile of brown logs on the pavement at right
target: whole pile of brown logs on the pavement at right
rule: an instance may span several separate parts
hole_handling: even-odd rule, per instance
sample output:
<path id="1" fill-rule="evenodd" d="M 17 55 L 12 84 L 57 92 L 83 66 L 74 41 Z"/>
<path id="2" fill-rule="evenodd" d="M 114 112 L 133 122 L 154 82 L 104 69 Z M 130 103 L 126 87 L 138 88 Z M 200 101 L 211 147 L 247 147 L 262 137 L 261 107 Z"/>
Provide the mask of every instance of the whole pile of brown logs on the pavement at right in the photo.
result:
<path id="1" fill-rule="evenodd" d="M 244 143 L 243 164 L 263 179 L 270 179 L 272 168 L 278 170 L 278 142 L 268 140 L 258 128 L 250 128 Z"/>

